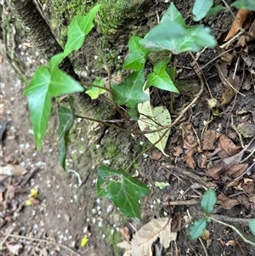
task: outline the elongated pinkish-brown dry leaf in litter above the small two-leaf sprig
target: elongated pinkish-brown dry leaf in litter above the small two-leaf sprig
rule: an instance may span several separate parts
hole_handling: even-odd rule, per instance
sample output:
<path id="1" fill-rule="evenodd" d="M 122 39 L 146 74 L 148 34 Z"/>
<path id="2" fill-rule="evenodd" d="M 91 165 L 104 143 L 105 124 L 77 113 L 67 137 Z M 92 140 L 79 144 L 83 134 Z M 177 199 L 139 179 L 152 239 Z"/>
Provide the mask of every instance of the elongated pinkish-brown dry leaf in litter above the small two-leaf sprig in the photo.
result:
<path id="1" fill-rule="evenodd" d="M 238 154 L 235 154 L 235 156 L 230 156 L 220 160 L 216 165 L 207 170 L 207 174 L 209 174 L 213 179 L 218 179 L 221 174 L 224 174 L 229 168 L 241 161 L 241 157 L 244 152 L 245 151 L 242 150 Z"/>

